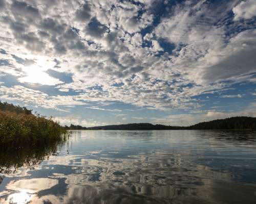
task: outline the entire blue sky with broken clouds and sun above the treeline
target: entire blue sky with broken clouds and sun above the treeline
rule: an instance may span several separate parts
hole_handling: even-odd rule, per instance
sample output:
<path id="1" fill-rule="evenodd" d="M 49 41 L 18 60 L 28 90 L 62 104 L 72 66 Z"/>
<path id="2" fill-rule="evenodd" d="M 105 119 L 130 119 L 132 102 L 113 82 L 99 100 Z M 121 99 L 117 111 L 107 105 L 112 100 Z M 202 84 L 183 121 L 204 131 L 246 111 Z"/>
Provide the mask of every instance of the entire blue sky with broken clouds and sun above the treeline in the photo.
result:
<path id="1" fill-rule="evenodd" d="M 256 117 L 256 1 L 0 0 L 0 100 L 83 126 Z"/>

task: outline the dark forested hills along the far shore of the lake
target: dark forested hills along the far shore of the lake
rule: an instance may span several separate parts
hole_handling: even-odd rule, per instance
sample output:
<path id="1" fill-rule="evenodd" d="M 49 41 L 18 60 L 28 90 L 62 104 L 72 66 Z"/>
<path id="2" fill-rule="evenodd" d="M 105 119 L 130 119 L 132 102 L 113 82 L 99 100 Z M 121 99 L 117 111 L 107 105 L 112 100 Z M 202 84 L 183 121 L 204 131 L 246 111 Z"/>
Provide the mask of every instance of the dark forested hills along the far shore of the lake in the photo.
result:
<path id="1" fill-rule="evenodd" d="M 130 123 L 88 127 L 88 130 L 256 130 L 255 117 L 231 117 L 200 122 L 191 126 L 169 126 L 151 123 Z"/>

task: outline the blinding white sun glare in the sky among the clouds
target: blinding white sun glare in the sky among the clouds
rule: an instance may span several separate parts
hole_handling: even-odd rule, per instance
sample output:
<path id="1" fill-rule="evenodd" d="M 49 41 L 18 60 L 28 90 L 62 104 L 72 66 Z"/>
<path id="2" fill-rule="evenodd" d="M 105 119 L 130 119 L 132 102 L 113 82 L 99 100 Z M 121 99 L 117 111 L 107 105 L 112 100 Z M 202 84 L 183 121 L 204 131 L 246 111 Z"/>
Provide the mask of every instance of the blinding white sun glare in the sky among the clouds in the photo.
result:
<path id="1" fill-rule="evenodd" d="M 18 79 L 22 83 L 40 84 L 40 85 L 56 85 L 62 82 L 59 79 L 51 77 L 44 69 L 39 66 L 24 67 L 23 71 L 26 73 L 25 77 Z"/>

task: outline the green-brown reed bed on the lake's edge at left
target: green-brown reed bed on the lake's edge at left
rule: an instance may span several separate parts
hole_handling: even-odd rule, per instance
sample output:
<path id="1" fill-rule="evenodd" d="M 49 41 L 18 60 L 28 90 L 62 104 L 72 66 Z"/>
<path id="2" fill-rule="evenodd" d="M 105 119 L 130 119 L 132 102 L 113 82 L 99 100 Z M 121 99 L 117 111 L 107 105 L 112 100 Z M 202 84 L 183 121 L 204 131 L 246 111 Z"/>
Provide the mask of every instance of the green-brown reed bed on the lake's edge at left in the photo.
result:
<path id="1" fill-rule="evenodd" d="M 51 118 L 0 110 L 0 143 L 40 143 L 67 135 L 65 127 Z"/>

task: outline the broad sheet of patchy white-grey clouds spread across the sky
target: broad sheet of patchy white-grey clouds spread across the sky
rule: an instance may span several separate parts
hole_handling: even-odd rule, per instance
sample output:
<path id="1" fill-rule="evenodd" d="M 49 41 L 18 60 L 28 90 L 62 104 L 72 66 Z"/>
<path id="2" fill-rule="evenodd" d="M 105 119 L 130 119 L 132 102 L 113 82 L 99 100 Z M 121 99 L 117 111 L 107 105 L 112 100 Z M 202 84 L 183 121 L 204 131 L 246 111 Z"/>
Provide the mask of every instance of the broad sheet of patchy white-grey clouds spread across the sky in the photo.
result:
<path id="1" fill-rule="evenodd" d="M 225 20 L 232 10 L 235 18 L 252 15 L 252 1 L 221 5 L 184 1 L 161 16 L 156 27 L 154 5 L 158 3 L 137 2 L 144 5 L 114 0 L 26 1 L 27 6 L 18 9 L 9 1 L 0 14 L 0 45 L 7 53 L 1 53 L 0 75 L 11 74 L 27 83 L 26 68 L 34 61 L 40 69 L 30 82 L 52 85 L 66 96 L 37 93 L 20 85 L 1 88 L 2 97 L 53 109 L 108 100 L 151 110 L 191 111 L 203 106 L 194 96 L 221 95 L 232 83 L 255 82 L 251 75 L 255 29 Z M 249 4 L 250 11 L 244 14 Z M 160 40 L 172 52 L 165 52 Z M 49 74 L 49 69 L 70 74 L 71 82 Z"/>

